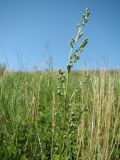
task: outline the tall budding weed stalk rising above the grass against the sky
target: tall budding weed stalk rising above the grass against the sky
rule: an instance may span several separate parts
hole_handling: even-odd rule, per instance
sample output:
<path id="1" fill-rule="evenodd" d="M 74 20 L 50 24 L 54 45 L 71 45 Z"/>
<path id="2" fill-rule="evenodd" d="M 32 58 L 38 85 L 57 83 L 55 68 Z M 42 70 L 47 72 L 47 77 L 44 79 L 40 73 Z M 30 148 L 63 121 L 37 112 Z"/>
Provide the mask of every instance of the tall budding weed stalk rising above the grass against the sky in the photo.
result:
<path id="1" fill-rule="evenodd" d="M 75 38 L 72 38 L 70 41 L 71 49 L 68 57 L 68 64 L 67 64 L 67 73 L 65 74 L 62 70 L 59 70 L 58 72 L 58 95 L 64 97 L 64 108 L 66 108 L 67 96 L 68 96 L 68 85 L 69 85 L 69 73 L 71 71 L 71 68 L 73 65 L 80 59 L 80 54 L 83 52 L 84 47 L 88 43 L 88 39 L 85 39 L 78 49 L 74 51 L 74 47 L 76 43 L 79 41 L 81 36 L 83 35 L 83 32 L 81 31 L 83 26 L 88 22 L 90 16 L 90 10 L 89 8 L 86 8 L 85 14 L 82 16 L 80 23 L 77 25 L 77 35 Z M 76 92 L 76 89 L 75 89 Z M 73 92 L 74 93 L 74 92 Z M 69 105 L 69 104 L 68 104 Z"/>

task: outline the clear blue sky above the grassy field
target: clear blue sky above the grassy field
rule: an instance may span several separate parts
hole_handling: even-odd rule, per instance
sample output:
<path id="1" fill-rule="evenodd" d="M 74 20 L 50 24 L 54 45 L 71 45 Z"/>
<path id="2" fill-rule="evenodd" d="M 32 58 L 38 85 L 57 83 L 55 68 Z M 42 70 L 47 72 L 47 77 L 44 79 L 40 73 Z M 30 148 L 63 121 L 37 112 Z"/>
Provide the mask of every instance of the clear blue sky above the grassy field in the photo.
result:
<path id="1" fill-rule="evenodd" d="M 34 65 L 45 68 L 53 57 L 54 69 L 66 65 L 69 41 L 86 7 L 89 39 L 81 61 L 74 67 L 120 66 L 120 0 L 0 0 L 0 63 L 10 69 Z M 48 45 L 48 49 L 46 49 Z"/>

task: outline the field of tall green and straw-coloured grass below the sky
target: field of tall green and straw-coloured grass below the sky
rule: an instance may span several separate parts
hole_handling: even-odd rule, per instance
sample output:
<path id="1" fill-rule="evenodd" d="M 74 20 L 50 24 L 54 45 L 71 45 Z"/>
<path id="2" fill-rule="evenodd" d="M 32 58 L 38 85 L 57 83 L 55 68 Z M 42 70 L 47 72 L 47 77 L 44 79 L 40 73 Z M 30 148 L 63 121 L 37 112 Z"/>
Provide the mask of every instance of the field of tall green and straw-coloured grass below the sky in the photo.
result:
<path id="1" fill-rule="evenodd" d="M 1 160 L 119 160 L 120 71 L 0 77 Z M 64 86 L 63 86 L 64 89 Z"/>

